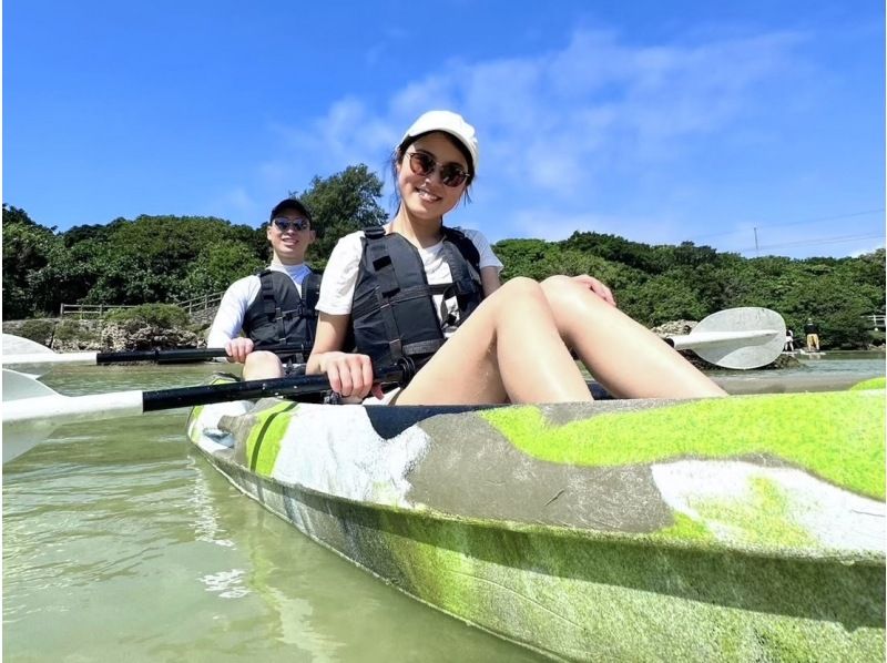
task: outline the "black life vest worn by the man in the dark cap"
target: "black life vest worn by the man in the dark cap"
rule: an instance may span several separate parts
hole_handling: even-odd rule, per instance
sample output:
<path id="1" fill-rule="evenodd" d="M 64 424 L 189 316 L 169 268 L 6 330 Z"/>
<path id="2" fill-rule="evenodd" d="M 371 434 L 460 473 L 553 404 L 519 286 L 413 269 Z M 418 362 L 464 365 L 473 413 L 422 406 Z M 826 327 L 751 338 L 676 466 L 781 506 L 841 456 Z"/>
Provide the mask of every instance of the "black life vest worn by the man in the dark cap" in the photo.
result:
<path id="1" fill-rule="evenodd" d="M 262 290 L 246 309 L 244 333 L 256 349 L 271 345 L 303 345 L 304 350 L 278 355 L 282 361 L 307 361 L 317 330 L 317 299 L 320 275 L 312 272 L 302 282 L 302 296 L 288 274 L 265 269 L 258 273 Z"/>

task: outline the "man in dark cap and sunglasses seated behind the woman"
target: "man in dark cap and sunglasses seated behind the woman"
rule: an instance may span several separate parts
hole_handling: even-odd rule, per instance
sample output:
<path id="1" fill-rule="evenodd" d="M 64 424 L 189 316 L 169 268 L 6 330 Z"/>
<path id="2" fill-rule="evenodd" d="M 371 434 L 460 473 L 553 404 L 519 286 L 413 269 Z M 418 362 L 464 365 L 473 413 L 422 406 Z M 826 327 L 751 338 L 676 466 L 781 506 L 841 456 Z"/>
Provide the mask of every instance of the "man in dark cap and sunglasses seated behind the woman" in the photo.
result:
<path id="1" fill-rule="evenodd" d="M 247 380 L 282 377 L 304 364 L 317 327 L 320 275 L 305 264 L 305 252 L 317 237 L 310 213 L 295 198 L 281 201 L 271 212 L 266 236 L 271 264 L 228 287 L 206 341 L 224 347 L 228 361 L 244 364 Z M 281 355 L 262 349 L 282 345 L 290 349 Z"/>

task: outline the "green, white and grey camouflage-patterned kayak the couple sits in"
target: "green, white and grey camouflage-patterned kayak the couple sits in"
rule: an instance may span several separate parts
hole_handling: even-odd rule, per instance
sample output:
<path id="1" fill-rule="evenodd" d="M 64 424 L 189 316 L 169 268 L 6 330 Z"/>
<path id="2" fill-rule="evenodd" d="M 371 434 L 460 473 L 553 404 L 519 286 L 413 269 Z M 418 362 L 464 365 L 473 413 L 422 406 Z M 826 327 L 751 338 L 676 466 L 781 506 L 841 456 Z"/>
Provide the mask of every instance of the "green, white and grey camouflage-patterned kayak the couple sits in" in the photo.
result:
<path id="1" fill-rule="evenodd" d="M 554 659 L 884 661 L 884 380 L 863 387 L 487 408 L 264 399 L 194 408 L 187 431 L 318 543 Z"/>

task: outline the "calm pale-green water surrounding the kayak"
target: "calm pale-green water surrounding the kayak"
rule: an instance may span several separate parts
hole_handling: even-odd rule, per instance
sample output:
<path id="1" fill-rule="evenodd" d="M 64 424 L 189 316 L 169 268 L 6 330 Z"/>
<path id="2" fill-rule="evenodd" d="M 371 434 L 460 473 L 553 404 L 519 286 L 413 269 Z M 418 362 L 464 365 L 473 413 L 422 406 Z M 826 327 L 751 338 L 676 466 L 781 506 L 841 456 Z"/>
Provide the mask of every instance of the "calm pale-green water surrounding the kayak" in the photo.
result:
<path id="1" fill-rule="evenodd" d="M 208 373 L 69 368 L 43 381 L 79 395 L 195 385 Z M 884 355 L 828 355 L 779 374 L 883 376 Z M 6 661 L 539 660 L 265 512 L 191 450 L 185 417 L 60 428 L 6 466 Z"/>

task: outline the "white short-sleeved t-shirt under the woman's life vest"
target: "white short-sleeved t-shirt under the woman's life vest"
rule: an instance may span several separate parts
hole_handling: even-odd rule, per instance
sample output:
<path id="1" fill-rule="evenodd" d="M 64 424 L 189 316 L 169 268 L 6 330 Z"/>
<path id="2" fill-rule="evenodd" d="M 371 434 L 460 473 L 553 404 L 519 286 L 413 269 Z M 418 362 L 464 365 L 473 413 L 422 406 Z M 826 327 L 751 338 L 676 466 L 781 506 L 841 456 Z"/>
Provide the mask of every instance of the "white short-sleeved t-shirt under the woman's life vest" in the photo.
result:
<path id="1" fill-rule="evenodd" d="M 496 257 L 487 238 L 477 231 L 460 230 L 478 249 L 480 255 L 480 268 L 496 267 L 497 272 L 502 269 L 502 263 Z M 320 284 L 320 298 L 317 302 L 317 310 L 330 315 L 345 315 L 351 313 L 351 300 L 354 299 L 354 288 L 357 284 L 357 272 L 360 267 L 360 256 L 364 247 L 361 238 L 363 231 L 345 235 L 338 241 L 329 262 L 324 269 L 324 280 Z M 425 274 L 429 285 L 452 283 L 450 266 L 443 257 L 443 241 L 441 239 L 428 248 L 416 247 L 425 266 Z M 445 320 L 455 320 L 459 314 L 459 305 L 456 297 L 447 299 L 446 307 L 441 307 L 443 295 L 435 295 L 435 308 L 440 318 L 441 330 L 450 334 L 455 326 L 445 324 Z M 443 310 L 447 312 L 443 316 Z"/>

